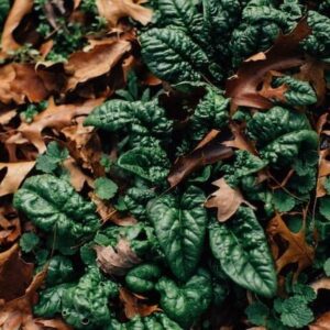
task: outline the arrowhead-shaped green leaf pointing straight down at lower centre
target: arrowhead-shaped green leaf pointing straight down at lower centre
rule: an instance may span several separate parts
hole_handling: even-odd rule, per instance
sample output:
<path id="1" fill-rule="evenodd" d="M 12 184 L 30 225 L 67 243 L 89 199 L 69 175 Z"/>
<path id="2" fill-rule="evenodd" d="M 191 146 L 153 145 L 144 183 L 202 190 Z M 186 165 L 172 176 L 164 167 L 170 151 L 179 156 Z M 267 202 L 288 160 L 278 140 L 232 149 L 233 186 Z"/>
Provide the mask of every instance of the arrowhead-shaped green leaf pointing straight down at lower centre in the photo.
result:
<path id="1" fill-rule="evenodd" d="M 205 195 L 189 187 L 183 196 L 163 195 L 151 200 L 147 216 L 173 274 L 182 280 L 197 267 L 205 241 L 207 212 Z"/>

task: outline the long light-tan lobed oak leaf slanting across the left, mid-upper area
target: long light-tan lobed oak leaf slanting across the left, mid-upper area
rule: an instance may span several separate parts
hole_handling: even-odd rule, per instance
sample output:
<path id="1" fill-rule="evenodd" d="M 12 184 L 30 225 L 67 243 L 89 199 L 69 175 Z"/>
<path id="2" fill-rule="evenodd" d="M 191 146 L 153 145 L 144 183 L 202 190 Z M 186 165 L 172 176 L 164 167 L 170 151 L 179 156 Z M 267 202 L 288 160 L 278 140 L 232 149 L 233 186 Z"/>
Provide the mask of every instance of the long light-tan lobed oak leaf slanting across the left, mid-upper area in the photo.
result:
<path id="1" fill-rule="evenodd" d="M 87 100 L 84 103 L 56 106 L 54 100 L 51 99 L 47 109 L 38 113 L 31 124 L 21 123 L 18 128 L 18 132 L 35 145 L 38 153 L 42 154 L 46 150 L 42 136 L 42 131 L 45 128 L 61 131 L 72 125 L 76 117 L 87 116 L 94 108 L 101 105 L 102 101 L 103 98 L 99 98 Z"/>

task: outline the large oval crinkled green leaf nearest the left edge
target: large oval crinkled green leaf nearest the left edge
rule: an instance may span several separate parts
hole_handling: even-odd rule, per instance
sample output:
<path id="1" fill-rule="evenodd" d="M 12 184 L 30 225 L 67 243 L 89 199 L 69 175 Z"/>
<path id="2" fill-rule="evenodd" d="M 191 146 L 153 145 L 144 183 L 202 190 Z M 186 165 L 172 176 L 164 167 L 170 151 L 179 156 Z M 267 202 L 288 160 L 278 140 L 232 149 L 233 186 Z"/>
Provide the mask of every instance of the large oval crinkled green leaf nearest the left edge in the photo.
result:
<path id="1" fill-rule="evenodd" d="M 95 206 L 85 201 L 69 183 L 52 175 L 26 179 L 13 204 L 36 227 L 45 232 L 56 231 L 58 237 L 79 239 L 100 226 Z"/>

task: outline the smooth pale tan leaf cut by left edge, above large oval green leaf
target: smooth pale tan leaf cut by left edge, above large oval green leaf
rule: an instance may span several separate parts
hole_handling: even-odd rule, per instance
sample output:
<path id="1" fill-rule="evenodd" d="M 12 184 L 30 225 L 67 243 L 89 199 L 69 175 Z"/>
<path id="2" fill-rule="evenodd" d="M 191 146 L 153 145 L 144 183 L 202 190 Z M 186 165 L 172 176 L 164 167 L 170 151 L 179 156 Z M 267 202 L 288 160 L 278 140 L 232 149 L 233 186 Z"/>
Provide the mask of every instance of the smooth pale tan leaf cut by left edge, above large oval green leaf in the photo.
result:
<path id="1" fill-rule="evenodd" d="M 0 186 L 0 197 L 15 193 L 34 164 L 35 162 L 0 163 L 0 169 L 7 168 Z"/>

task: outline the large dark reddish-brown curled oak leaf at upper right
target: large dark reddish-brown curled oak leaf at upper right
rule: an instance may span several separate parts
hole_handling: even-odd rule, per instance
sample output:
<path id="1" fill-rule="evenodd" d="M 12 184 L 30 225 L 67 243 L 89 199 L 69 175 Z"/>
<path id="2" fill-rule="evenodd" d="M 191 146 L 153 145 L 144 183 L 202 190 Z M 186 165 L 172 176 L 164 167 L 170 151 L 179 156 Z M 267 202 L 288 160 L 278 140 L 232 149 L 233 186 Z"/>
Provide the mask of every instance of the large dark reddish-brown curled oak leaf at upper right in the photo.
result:
<path id="1" fill-rule="evenodd" d="M 239 106 L 270 109 L 272 102 L 258 92 L 258 86 L 270 70 L 288 69 L 304 64 L 300 42 L 311 33 L 307 19 L 301 20 L 293 32 L 279 35 L 263 56 L 244 62 L 238 74 L 227 81 L 226 95 L 231 98 L 231 111 Z"/>

